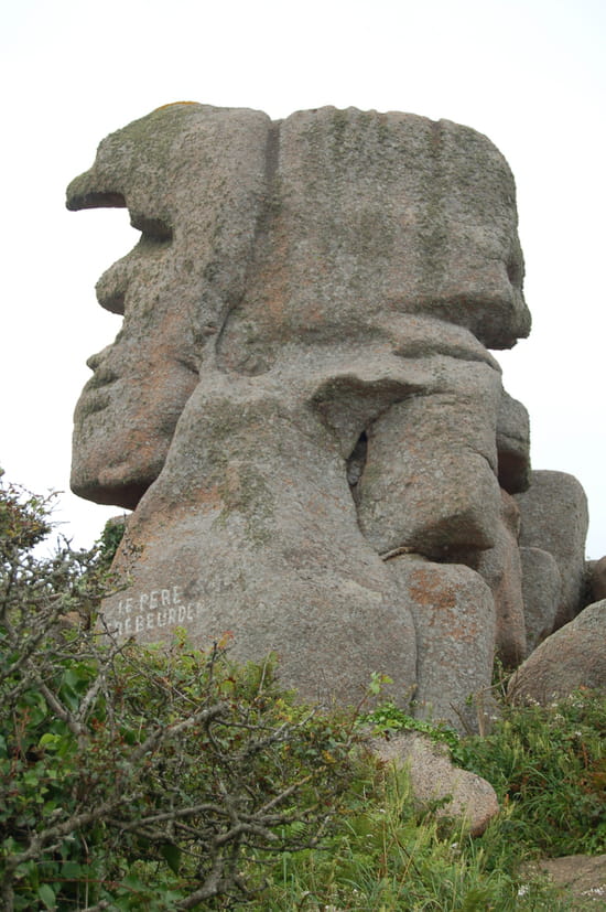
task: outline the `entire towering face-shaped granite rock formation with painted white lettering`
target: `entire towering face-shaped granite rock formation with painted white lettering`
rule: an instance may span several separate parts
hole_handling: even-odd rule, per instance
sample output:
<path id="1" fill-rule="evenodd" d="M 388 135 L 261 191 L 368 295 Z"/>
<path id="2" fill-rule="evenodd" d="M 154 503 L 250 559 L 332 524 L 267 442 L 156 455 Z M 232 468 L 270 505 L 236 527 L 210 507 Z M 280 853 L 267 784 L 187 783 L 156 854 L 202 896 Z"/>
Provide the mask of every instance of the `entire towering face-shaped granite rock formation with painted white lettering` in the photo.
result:
<path id="1" fill-rule="evenodd" d="M 472 567 L 493 549 L 509 604 L 498 474 L 520 487 L 527 461 L 485 347 L 530 329 L 504 158 L 414 115 L 178 104 L 71 184 L 69 208 L 107 205 L 142 237 L 98 283 L 125 321 L 90 362 L 72 484 L 136 507 L 108 627 L 231 631 L 312 698 L 386 672 L 456 723 L 495 647 Z"/>

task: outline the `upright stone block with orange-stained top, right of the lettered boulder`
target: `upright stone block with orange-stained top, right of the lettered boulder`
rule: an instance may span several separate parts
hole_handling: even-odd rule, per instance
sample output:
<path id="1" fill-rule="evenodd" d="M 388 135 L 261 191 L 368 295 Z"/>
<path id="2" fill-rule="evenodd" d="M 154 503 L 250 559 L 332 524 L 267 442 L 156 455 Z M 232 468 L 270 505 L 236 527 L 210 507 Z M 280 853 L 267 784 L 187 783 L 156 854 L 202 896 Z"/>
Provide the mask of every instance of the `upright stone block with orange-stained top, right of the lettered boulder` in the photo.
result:
<path id="1" fill-rule="evenodd" d="M 418 555 L 388 561 L 416 632 L 415 715 L 477 730 L 495 654 L 495 602 L 474 570 Z M 469 706 L 469 697 L 479 700 Z"/>

